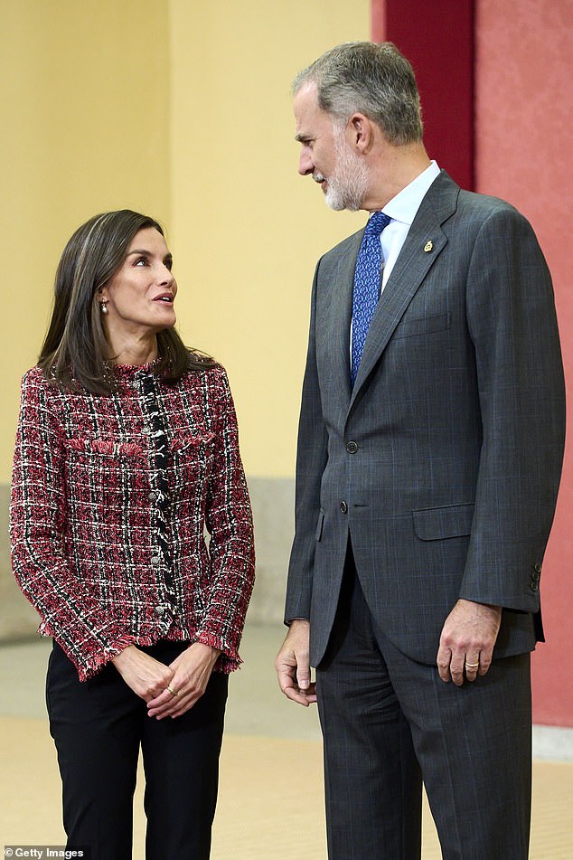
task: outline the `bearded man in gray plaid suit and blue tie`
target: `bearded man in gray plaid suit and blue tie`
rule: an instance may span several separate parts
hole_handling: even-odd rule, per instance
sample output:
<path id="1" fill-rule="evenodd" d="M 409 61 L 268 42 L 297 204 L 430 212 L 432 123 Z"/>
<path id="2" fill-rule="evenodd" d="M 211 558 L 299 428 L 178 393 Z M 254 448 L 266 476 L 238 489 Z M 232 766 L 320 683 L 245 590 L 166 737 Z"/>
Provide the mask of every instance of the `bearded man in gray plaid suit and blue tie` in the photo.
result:
<path id="1" fill-rule="evenodd" d="M 299 173 L 374 213 L 315 272 L 276 663 L 318 700 L 329 857 L 418 858 L 423 779 L 446 860 L 524 860 L 564 438 L 550 274 L 519 213 L 430 162 L 392 44 L 334 48 L 294 93 Z"/>

